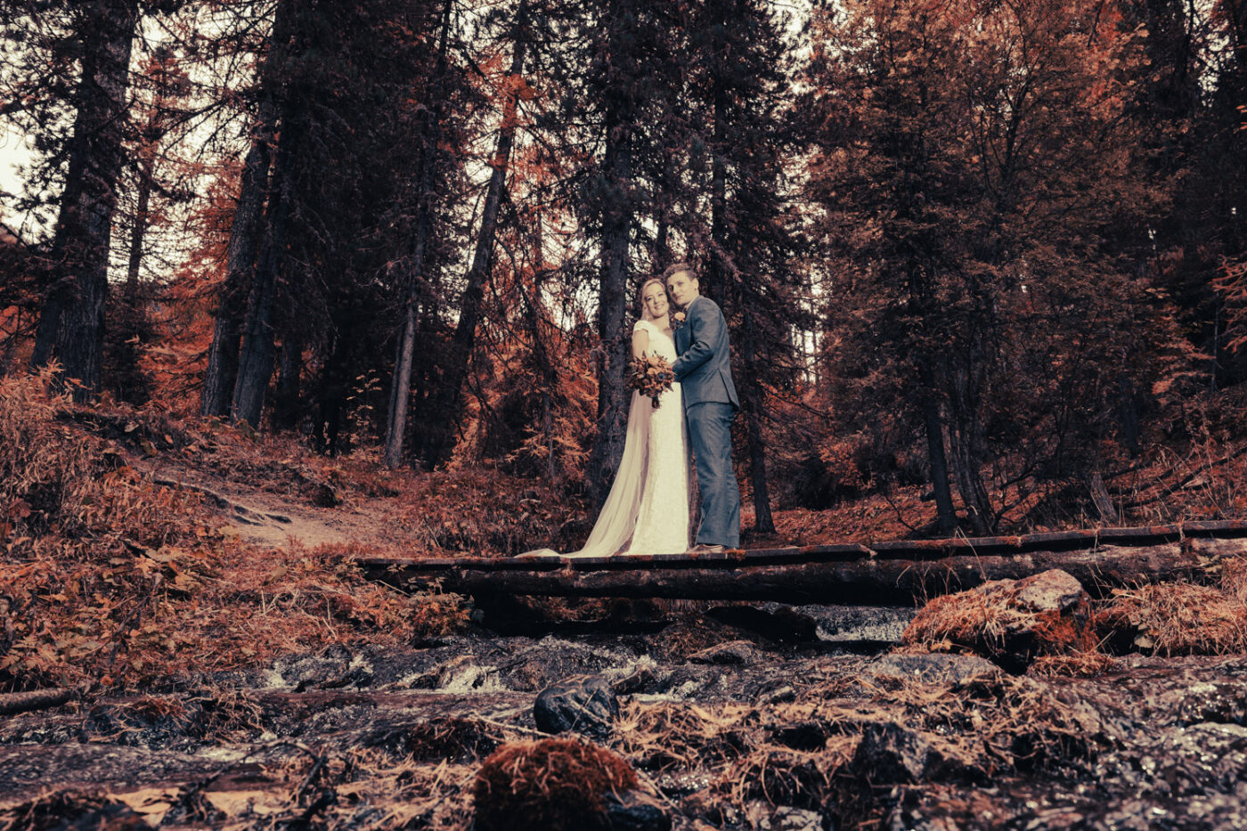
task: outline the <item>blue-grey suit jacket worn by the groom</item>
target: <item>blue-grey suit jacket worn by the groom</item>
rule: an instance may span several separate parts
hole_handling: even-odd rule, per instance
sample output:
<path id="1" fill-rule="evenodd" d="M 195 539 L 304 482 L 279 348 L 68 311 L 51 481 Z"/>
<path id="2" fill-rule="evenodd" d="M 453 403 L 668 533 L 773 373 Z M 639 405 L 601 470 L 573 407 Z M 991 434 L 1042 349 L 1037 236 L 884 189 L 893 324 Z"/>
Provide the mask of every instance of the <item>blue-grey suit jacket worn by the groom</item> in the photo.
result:
<path id="1" fill-rule="evenodd" d="M 723 312 L 711 298 L 697 297 L 685 314 L 683 326 L 676 329 L 676 354 L 680 357 L 671 364 L 685 407 L 713 401 L 739 409 Z"/>

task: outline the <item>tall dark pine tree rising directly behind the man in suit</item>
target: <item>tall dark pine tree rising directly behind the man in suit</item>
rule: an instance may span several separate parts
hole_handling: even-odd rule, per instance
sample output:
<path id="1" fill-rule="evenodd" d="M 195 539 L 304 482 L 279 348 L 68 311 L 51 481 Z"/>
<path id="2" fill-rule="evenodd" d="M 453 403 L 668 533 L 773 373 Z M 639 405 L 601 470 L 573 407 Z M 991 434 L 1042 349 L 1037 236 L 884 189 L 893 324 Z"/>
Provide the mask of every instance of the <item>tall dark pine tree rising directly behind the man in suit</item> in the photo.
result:
<path id="1" fill-rule="evenodd" d="M 691 145 L 705 147 L 710 167 L 708 182 L 690 183 L 708 197 L 708 228 L 690 231 L 706 246 L 703 289 L 723 303 L 736 329 L 737 389 L 762 533 L 774 533 L 763 440 L 767 398 L 791 387 L 793 329 L 811 326 L 797 302 L 798 242 L 787 191 L 786 161 L 799 141 L 789 99 L 788 22 L 766 4 L 732 0 L 700 6 L 687 27 L 687 95 L 697 114 Z"/>

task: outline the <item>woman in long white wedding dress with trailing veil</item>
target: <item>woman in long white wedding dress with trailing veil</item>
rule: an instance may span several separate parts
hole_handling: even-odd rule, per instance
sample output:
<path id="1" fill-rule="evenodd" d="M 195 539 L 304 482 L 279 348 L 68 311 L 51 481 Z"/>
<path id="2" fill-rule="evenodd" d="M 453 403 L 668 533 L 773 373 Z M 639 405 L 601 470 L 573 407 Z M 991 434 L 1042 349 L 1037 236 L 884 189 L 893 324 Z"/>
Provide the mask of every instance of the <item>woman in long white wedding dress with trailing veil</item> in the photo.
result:
<path id="1" fill-rule="evenodd" d="M 632 357 L 657 354 L 676 359 L 667 288 L 662 279 L 645 281 L 641 319 L 632 327 Z M 658 397 L 632 393 L 624 458 L 611 493 L 597 515 L 589 542 L 565 556 L 612 554 L 678 554 L 688 550 L 688 437 L 680 382 Z M 555 554 L 550 549 L 527 554 Z M 522 556 L 522 555 L 521 555 Z"/>

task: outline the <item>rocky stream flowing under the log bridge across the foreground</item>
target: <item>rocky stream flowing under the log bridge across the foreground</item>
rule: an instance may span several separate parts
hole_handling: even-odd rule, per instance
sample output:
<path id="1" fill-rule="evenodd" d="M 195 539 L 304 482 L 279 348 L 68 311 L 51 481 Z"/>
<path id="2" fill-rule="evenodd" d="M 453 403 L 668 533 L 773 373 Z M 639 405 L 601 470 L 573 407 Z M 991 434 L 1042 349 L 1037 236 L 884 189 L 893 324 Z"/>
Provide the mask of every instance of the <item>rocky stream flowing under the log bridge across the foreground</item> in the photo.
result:
<path id="1" fill-rule="evenodd" d="M 912 616 L 707 604 L 570 630 L 511 610 L 9 716 L 0 829 L 466 829 L 480 761 L 584 676 L 617 694 L 597 741 L 661 791 L 665 827 L 1247 827 L 1243 656 L 1015 676 L 889 651 Z"/>

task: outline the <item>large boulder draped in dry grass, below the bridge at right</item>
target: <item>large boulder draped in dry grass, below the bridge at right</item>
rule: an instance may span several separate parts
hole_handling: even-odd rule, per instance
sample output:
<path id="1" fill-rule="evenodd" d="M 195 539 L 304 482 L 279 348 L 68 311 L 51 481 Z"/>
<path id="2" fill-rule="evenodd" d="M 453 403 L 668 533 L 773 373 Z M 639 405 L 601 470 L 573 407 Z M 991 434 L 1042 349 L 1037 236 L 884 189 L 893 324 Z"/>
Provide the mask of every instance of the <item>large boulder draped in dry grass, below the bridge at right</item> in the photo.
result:
<path id="1" fill-rule="evenodd" d="M 1097 638 L 1082 584 L 1051 569 L 935 598 L 902 641 L 932 651 L 970 651 L 1010 673 L 1024 673 L 1042 655 L 1094 650 Z"/>

